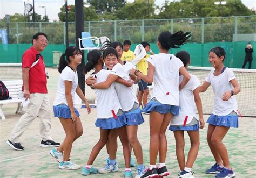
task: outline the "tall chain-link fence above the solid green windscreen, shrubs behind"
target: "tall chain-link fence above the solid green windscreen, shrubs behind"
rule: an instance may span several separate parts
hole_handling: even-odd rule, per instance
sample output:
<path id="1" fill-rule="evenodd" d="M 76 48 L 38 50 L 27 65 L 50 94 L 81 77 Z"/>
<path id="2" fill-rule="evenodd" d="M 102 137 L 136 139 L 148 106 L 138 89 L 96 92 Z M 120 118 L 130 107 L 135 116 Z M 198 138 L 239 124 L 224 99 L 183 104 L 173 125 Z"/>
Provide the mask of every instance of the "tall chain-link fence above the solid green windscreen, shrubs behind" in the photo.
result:
<path id="1" fill-rule="evenodd" d="M 50 44 L 65 44 L 64 22 L 0 23 L 0 29 L 9 29 L 9 44 L 31 43 L 37 32 L 48 34 Z M 111 41 L 131 40 L 132 43 L 157 42 L 160 32 L 191 31 L 191 42 L 255 41 L 256 16 L 179 18 L 149 20 L 110 20 L 84 23 L 92 36 L 106 36 Z M 75 22 L 69 22 L 69 42 L 75 43 Z"/>

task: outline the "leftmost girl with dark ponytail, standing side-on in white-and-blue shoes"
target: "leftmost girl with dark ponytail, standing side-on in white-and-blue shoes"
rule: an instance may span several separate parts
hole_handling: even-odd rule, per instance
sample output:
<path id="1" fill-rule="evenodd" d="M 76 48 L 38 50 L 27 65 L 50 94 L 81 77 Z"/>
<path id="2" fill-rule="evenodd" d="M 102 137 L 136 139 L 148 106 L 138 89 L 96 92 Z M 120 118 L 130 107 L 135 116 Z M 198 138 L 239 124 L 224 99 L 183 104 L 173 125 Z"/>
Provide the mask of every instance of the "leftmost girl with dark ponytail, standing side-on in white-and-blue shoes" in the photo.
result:
<path id="1" fill-rule="evenodd" d="M 83 126 L 79 118 L 80 115 L 74 107 L 75 92 L 86 104 L 88 113 L 91 112 L 90 105 L 78 86 L 76 68 L 80 65 L 81 60 L 82 52 L 76 46 L 68 47 L 59 60 L 58 71 L 60 72 L 60 76 L 55 101 L 53 102 L 53 112 L 54 117 L 59 118 L 65 130 L 66 137 L 57 149 L 54 148 L 50 151 L 50 154 L 60 163 L 60 169 L 80 168 L 79 165 L 70 161 L 69 158 L 72 143 L 83 134 Z"/>

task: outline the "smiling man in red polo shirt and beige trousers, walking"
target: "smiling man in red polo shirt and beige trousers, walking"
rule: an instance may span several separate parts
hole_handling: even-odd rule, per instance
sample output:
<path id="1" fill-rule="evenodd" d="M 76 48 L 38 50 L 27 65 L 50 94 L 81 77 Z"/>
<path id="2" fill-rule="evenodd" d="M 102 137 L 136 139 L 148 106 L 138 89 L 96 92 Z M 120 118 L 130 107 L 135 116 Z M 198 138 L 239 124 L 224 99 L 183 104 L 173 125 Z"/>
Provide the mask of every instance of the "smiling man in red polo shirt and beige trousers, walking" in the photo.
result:
<path id="1" fill-rule="evenodd" d="M 22 115 L 18 123 L 11 132 L 11 136 L 6 143 L 16 150 L 23 150 L 24 147 L 19 143 L 19 137 L 38 116 L 40 122 L 40 135 L 42 138 L 41 147 L 57 147 L 60 144 L 52 140 L 50 101 L 47 94 L 47 80 L 43 56 L 40 52 L 47 46 L 47 35 L 36 33 L 28 50 L 22 56 L 22 81 L 23 93 L 26 99 L 30 100 L 26 113 Z"/>

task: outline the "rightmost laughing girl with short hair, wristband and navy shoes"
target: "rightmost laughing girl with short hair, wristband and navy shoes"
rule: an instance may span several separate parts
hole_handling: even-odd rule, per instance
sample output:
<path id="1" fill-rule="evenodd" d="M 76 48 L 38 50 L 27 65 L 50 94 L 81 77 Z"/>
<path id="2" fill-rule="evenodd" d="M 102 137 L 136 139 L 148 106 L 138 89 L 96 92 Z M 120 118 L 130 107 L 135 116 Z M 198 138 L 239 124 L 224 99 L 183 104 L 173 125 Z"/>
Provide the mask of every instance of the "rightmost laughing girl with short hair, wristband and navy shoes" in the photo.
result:
<path id="1" fill-rule="evenodd" d="M 207 120 L 207 141 L 216 163 L 206 170 L 208 174 L 218 173 L 215 177 L 235 176 L 222 140 L 230 127 L 238 128 L 238 106 L 234 95 L 240 92 L 240 87 L 233 71 L 223 65 L 225 54 L 221 47 L 210 50 L 209 62 L 214 69 L 199 87 L 199 92 L 204 92 L 211 85 L 215 95 L 213 112 Z"/>

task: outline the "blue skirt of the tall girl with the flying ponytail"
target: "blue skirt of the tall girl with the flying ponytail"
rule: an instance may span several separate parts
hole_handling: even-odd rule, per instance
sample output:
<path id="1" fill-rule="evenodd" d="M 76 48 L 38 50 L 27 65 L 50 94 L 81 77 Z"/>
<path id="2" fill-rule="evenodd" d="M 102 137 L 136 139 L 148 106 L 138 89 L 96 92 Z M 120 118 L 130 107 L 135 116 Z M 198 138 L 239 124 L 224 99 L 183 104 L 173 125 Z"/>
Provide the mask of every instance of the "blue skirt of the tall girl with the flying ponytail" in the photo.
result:
<path id="1" fill-rule="evenodd" d="M 161 114 L 170 112 L 173 115 L 179 115 L 179 106 L 162 104 L 158 101 L 151 99 L 150 102 L 145 105 L 142 111 L 146 113 L 150 113 L 151 111 L 156 111 Z"/>

